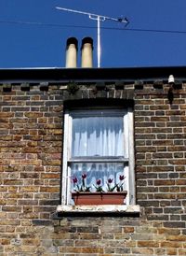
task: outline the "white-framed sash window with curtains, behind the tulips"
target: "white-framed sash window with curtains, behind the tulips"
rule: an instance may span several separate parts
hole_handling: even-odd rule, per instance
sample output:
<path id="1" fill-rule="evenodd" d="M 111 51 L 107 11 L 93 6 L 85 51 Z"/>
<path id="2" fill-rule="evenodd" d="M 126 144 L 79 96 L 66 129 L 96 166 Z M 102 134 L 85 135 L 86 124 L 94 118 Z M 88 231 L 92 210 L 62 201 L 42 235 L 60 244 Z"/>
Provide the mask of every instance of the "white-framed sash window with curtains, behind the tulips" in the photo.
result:
<path id="1" fill-rule="evenodd" d="M 62 168 L 62 205 L 72 205 L 73 178 L 86 173 L 94 191 L 98 179 L 106 190 L 108 178 L 124 176 L 126 205 L 134 198 L 133 112 L 130 107 L 66 110 Z"/>

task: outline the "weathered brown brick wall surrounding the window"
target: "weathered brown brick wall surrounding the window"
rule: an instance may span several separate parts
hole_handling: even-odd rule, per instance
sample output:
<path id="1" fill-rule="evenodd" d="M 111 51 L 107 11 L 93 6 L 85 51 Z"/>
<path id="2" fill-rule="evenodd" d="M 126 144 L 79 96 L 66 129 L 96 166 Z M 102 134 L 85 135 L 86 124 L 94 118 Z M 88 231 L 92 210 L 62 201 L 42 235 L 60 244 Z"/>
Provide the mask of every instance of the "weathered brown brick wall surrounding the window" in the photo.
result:
<path id="1" fill-rule="evenodd" d="M 185 86 L 173 90 L 170 104 L 172 94 L 163 83 L 84 85 L 77 91 L 52 84 L 1 85 L 0 255 L 186 255 Z M 134 101 L 140 216 L 54 220 L 63 103 L 82 98 Z"/>

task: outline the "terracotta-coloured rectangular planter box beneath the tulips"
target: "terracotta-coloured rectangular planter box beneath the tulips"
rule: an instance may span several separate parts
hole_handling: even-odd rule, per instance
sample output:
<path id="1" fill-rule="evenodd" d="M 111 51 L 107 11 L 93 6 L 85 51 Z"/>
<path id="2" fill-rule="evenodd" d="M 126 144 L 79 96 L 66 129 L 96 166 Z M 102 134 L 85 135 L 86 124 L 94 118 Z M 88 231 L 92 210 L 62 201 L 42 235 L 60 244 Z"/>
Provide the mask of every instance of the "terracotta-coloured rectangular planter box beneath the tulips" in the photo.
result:
<path id="1" fill-rule="evenodd" d="M 74 205 L 126 205 L 127 192 L 72 192 Z"/>

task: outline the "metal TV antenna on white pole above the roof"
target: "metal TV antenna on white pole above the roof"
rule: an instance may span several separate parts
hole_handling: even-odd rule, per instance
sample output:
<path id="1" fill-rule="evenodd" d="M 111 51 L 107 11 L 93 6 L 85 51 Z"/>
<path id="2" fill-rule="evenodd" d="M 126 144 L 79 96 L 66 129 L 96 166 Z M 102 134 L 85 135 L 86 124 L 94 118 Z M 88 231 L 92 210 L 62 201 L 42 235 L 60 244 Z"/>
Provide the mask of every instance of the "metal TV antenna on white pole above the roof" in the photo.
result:
<path id="1" fill-rule="evenodd" d="M 69 8 L 63 8 L 63 7 L 56 7 L 57 9 L 64 10 L 64 11 L 69 11 L 73 13 L 79 13 L 79 14 L 84 14 L 87 15 L 90 20 L 97 21 L 97 36 L 98 36 L 98 67 L 100 67 L 100 21 L 116 21 L 116 22 L 121 22 L 125 23 L 126 25 L 129 23 L 129 21 L 126 18 L 113 18 L 113 17 L 108 17 L 108 16 L 103 16 L 99 14 L 94 14 L 94 13 L 89 13 L 85 11 L 79 11 L 75 9 L 69 9 Z"/>

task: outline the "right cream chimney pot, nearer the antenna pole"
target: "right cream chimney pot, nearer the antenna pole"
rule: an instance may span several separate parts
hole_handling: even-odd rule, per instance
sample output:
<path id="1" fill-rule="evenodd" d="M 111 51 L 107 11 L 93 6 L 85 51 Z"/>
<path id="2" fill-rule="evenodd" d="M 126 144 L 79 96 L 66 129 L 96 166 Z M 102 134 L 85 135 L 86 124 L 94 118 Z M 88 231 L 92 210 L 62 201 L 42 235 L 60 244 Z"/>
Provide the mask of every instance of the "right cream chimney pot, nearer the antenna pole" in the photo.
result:
<path id="1" fill-rule="evenodd" d="M 82 39 L 82 67 L 93 66 L 93 39 L 91 37 L 85 37 Z"/>

